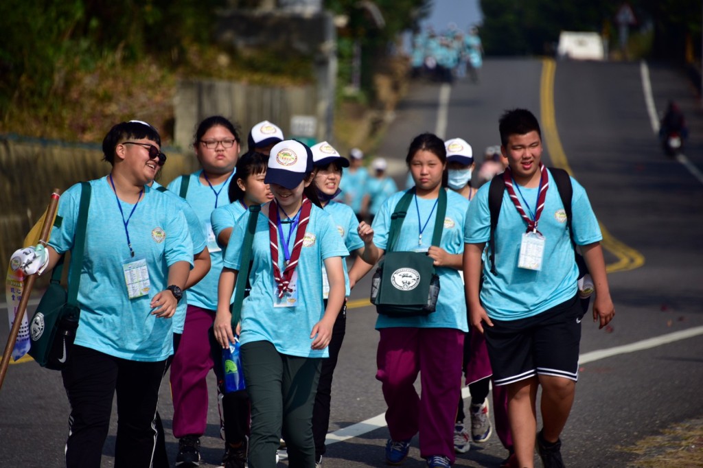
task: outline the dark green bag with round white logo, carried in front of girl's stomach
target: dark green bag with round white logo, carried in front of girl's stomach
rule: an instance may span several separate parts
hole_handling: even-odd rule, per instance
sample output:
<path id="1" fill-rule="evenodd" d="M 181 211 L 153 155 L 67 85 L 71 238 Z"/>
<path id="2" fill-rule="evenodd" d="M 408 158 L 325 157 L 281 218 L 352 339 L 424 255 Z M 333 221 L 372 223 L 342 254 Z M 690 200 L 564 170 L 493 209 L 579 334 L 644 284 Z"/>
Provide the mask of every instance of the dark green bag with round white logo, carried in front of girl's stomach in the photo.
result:
<path id="1" fill-rule="evenodd" d="M 425 252 L 396 252 L 400 229 L 415 189 L 408 190 L 391 215 L 387 249 L 371 280 L 371 303 L 389 317 L 426 316 L 437 308 L 439 275 Z M 446 215 L 446 191 L 439 191 L 432 245 L 439 246 Z"/>

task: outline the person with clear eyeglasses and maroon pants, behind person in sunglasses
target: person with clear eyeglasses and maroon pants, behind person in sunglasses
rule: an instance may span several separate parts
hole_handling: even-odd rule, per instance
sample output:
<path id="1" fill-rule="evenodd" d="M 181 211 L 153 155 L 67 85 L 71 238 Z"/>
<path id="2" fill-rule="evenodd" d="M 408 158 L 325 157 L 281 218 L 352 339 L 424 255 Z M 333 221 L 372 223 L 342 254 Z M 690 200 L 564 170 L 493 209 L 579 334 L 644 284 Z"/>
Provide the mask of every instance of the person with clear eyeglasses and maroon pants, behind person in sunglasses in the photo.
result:
<path id="1" fill-rule="evenodd" d="M 200 436 L 205 434 L 207 424 L 206 377 L 213 366 L 207 330 L 214 322 L 214 292 L 222 269 L 221 248 L 212 231 L 210 214 L 229 202 L 227 191 L 239 157 L 239 144 L 239 134 L 228 119 L 219 115 L 207 117 L 198 125 L 193 140 L 201 169 L 177 177 L 168 185 L 198 214 L 212 264 L 205 278 L 188 290 L 186 323 L 171 366 L 173 431 L 179 439 L 179 466 L 199 462 Z"/>

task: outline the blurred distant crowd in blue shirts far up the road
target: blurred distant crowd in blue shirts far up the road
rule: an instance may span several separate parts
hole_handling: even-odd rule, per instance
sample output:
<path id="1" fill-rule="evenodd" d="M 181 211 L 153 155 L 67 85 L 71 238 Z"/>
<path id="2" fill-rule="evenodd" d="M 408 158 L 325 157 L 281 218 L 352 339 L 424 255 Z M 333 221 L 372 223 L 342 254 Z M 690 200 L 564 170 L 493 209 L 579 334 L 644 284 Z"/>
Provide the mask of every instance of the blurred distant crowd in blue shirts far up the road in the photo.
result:
<path id="1" fill-rule="evenodd" d="M 464 78 L 468 73 L 472 82 L 478 82 L 483 55 L 477 27 L 463 32 L 452 23 L 439 34 L 427 27 L 413 36 L 412 75 L 451 83 L 455 77 Z"/>

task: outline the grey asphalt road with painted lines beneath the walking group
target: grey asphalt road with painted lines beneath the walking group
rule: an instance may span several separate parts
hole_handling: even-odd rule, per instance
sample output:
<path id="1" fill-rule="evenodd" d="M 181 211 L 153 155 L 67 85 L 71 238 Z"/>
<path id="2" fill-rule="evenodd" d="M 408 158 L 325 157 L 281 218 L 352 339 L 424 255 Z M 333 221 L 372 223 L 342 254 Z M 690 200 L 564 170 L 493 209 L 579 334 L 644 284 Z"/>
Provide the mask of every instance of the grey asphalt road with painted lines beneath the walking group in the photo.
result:
<path id="1" fill-rule="evenodd" d="M 637 441 L 703 417 L 703 181 L 659 150 L 639 63 L 560 62 L 551 67 L 553 86 L 545 80 L 550 67 L 541 60 L 486 60 L 478 84 L 456 82 L 445 91 L 439 84 L 414 84 L 378 155 L 391 160 L 392 167 L 402 167 L 413 136 L 437 131 L 439 122 L 446 138 L 464 138 L 480 157 L 486 146 L 499 143 L 503 110 L 525 107 L 542 119 L 543 134 L 551 132 L 550 141 L 560 143 L 546 145 L 546 160 L 567 162 L 609 235 L 607 261 L 617 309 L 607 330 L 584 320 L 581 377 L 562 436 L 562 455 L 570 467 L 622 467 L 636 460 L 626 449 Z M 662 112 L 670 98 L 681 104 L 691 134 L 684 152 L 703 170 L 703 112 L 694 91 L 676 70 L 650 65 L 648 71 L 656 110 Z M 441 96 L 449 96 L 446 114 Z M 554 122 L 546 125 L 549 112 Z M 397 178 L 404 186 L 402 169 Z M 356 306 L 349 310 L 335 372 L 330 423 L 330 432 L 354 431 L 366 421 L 367 431 L 362 428 L 355 432 L 358 436 L 330 444 L 325 467 L 384 465 L 388 434 L 382 427 L 380 383 L 374 379 L 376 314 L 363 306 L 368 290 L 365 278 L 352 292 Z M 7 325 L 0 322 L 4 343 Z M 160 413 L 174 460 L 177 441 L 168 431 L 172 406 L 167 384 Z M 62 466 L 67 415 L 58 372 L 31 362 L 11 365 L 0 391 L 0 466 Z M 202 438 L 205 467 L 217 466 L 222 454 L 214 398 L 208 423 Z M 113 464 L 115 427 L 113 414 L 103 450 L 105 467 Z M 415 438 L 404 466 L 425 466 L 417 447 Z M 456 466 L 493 467 L 504 457 L 494 436 L 458 455 Z"/>

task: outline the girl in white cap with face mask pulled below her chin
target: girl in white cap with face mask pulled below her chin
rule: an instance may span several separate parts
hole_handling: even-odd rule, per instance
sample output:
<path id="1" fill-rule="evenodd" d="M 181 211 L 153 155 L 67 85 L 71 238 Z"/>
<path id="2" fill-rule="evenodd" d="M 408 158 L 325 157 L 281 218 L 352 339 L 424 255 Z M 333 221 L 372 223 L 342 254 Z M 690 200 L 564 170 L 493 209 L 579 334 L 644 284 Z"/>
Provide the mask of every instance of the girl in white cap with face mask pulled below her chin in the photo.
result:
<path id="1" fill-rule="evenodd" d="M 370 271 L 369 264 L 375 264 L 378 259 L 378 249 L 373 244 L 373 229 L 366 222 L 359 221 L 354 215 L 354 210 L 347 204 L 335 202 L 334 199 L 340 194 L 340 181 L 342 179 L 342 167 L 349 167 L 349 161 L 342 157 L 335 148 L 326 141 L 317 143 L 312 148 L 313 165 L 315 167 L 314 186 L 317 190 L 318 198 L 325 212 L 332 216 L 337 226 L 344 245 L 349 252 L 356 251 L 356 259 L 349 271 L 349 285 L 346 294 L 349 295 L 349 287 L 354 287 L 363 275 Z M 363 261 L 366 259 L 366 261 Z M 347 275 L 347 264 L 342 262 L 344 274 Z M 323 280 L 326 274 L 323 272 Z M 323 294 L 325 302 L 328 299 L 328 287 L 324 285 Z M 315 461 L 316 467 L 322 465 L 322 456 L 325 454 L 325 437 L 330 425 L 330 401 L 332 399 L 332 379 L 337 357 L 342 348 L 344 333 L 347 327 L 347 306 L 342 307 L 332 332 L 330 341 L 330 358 L 323 360 L 320 383 L 315 396 L 315 407 L 313 410 L 312 431 L 315 438 Z"/>

